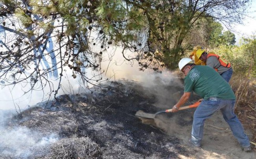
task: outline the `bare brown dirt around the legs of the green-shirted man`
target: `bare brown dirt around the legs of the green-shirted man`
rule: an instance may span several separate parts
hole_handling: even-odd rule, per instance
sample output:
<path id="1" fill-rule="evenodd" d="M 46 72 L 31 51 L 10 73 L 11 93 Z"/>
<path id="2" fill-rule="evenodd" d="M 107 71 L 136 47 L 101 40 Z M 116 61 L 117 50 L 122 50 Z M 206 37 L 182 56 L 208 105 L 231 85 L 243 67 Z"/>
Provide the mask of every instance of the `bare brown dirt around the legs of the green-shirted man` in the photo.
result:
<path id="1" fill-rule="evenodd" d="M 155 121 L 157 126 L 162 128 L 166 134 L 185 140 L 191 135 L 192 124 L 182 126 L 176 123 L 180 120 L 180 117 L 183 117 L 185 121 L 192 122 L 192 115 L 193 111 L 187 111 L 186 115 L 185 113 L 179 113 L 170 118 L 160 117 Z M 250 137 L 251 133 L 246 133 Z M 193 148 L 191 149 L 193 150 Z M 241 149 L 228 124 L 218 111 L 205 122 L 202 148 L 196 150 L 196 153 L 189 157 L 182 154 L 179 157 L 182 159 L 256 159 L 256 154 L 254 152 L 244 152 Z"/>

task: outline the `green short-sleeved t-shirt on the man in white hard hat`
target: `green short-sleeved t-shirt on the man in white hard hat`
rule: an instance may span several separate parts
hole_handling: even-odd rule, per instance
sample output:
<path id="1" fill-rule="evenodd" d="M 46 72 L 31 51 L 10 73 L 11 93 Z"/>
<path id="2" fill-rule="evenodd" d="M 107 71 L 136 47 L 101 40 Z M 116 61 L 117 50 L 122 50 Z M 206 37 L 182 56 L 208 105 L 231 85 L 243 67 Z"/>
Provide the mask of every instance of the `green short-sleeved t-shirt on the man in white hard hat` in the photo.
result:
<path id="1" fill-rule="evenodd" d="M 194 91 L 205 100 L 210 97 L 236 99 L 228 82 L 208 66 L 194 66 L 184 79 L 185 92 Z"/>

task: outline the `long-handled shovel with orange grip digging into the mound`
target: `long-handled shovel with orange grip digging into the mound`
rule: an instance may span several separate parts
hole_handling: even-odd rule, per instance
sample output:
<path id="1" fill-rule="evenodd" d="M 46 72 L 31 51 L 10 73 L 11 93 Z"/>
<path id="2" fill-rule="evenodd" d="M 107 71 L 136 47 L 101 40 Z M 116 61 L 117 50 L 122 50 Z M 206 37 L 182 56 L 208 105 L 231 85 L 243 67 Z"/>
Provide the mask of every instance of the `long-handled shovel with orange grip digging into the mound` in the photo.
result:
<path id="1" fill-rule="evenodd" d="M 197 101 L 194 104 L 191 104 L 189 106 L 182 106 L 179 108 L 179 110 L 185 110 L 185 109 L 189 109 L 189 108 L 197 108 L 199 106 L 199 104 L 201 103 L 201 101 Z M 143 118 L 149 118 L 149 119 L 154 119 L 156 117 L 156 115 L 161 114 L 161 113 L 170 113 L 173 112 L 173 109 L 167 109 L 167 110 L 161 110 L 158 111 L 154 114 L 150 114 L 150 113 L 145 113 L 142 110 L 139 110 L 135 113 L 135 116 L 137 117 L 143 117 Z"/>

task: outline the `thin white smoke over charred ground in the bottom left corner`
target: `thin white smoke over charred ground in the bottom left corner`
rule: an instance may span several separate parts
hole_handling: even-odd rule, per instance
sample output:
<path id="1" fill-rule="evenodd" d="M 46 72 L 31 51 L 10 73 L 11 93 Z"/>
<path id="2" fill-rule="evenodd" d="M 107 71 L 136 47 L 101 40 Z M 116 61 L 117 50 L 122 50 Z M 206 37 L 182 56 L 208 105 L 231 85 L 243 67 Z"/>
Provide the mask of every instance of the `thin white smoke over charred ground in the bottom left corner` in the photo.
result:
<path id="1" fill-rule="evenodd" d="M 37 155 L 37 150 L 47 153 L 49 144 L 58 141 L 58 135 L 42 136 L 39 132 L 32 131 L 24 126 L 9 130 L 0 128 L 0 153 L 2 156 L 28 158 Z M 42 149 L 43 148 L 43 149 Z M 40 155 L 43 155 L 40 152 Z"/>

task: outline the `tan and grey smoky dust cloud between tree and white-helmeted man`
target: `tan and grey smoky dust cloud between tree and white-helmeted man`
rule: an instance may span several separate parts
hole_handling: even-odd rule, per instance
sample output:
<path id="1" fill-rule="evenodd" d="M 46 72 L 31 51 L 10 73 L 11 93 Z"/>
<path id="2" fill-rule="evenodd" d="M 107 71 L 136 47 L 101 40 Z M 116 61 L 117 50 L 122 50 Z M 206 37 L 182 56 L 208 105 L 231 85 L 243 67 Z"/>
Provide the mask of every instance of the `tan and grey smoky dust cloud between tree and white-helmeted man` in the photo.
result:
<path id="1" fill-rule="evenodd" d="M 106 77 L 139 82 L 145 88 L 143 93 L 152 93 L 156 96 L 158 102 L 155 103 L 155 106 L 157 108 L 171 108 L 176 104 L 177 99 L 183 92 L 183 84 L 176 72 L 167 69 L 162 69 L 161 73 L 152 69 L 140 71 L 137 61 L 129 63 L 124 60 L 121 48 L 111 48 L 108 53 L 108 56 L 105 56 L 102 60 L 102 68 L 107 68 Z M 134 56 L 130 50 L 124 51 L 124 55 L 127 57 Z"/>

